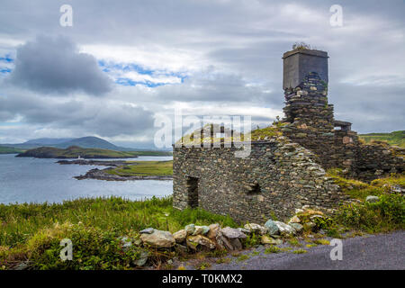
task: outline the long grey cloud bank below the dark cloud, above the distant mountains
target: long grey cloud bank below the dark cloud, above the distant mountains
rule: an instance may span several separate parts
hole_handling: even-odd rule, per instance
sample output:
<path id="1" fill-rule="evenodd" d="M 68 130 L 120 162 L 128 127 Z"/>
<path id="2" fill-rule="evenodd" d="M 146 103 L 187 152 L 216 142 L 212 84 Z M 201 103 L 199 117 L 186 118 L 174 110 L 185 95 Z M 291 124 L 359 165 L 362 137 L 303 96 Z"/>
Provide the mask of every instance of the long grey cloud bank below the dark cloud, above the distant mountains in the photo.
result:
<path id="1" fill-rule="evenodd" d="M 44 128 L 76 130 L 77 136 L 102 137 L 143 135 L 153 130 L 153 112 L 128 103 L 90 101 L 85 97 L 38 96 L 23 90 L 8 90 L 0 98 L 3 121 L 21 116 L 22 122 Z"/>

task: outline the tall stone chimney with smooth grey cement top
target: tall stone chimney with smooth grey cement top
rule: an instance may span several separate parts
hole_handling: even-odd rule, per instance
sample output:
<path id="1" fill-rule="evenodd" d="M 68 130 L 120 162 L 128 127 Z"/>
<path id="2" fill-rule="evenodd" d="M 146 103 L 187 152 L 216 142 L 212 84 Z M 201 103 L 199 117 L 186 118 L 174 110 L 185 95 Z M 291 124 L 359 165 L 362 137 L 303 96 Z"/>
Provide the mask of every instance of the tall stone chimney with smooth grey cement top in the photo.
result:
<path id="1" fill-rule="evenodd" d="M 334 144 L 333 105 L 328 103 L 328 53 L 294 49 L 284 53 L 283 134 L 311 149 L 325 166 Z"/>

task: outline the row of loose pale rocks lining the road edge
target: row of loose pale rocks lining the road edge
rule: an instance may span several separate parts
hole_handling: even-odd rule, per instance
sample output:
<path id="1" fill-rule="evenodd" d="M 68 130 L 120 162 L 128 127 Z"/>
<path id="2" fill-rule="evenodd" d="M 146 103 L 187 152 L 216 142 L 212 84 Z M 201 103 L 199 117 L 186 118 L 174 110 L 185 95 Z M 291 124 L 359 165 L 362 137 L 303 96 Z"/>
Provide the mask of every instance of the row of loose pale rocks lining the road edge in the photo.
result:
<path id="1" fill-rule="evenodd" d="M 197 251 L 241 250 L 245 240 L 253 234 L 260 237 L 263 245 L 279 245 L 283 238 L 290 238 L 305 231 L 317 229 L 317 218 L 325 216 L 321 211 L 298 209 L 288 223 L 277 220 L 267 220 L 264 226 L 257 223 L 247 223 L 239 228 L 220 228 L 218 223 L 210 226 L 189 224 L 175 233 L 148 228 L 141 230 L 140 240 L 144 247 L 174 248 L 186 253 Z"/>

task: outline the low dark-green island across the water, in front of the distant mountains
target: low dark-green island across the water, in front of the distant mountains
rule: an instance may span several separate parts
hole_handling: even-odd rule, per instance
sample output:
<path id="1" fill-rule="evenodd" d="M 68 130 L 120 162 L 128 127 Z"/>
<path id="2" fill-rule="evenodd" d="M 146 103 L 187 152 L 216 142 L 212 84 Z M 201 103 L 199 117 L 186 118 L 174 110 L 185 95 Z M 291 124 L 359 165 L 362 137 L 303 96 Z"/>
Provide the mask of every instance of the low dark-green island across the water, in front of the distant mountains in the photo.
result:
<path id="1" fill-rule="evenodd" d="M 36 157 L 36 158 L 132 158 L 138 156 L 171 156 L 172 154 L 164 151 L 114 151 L 101 148 L 81 148 L 70 146 L 68 148 L 40 147 L 29 149 L 15 157 Z"/>

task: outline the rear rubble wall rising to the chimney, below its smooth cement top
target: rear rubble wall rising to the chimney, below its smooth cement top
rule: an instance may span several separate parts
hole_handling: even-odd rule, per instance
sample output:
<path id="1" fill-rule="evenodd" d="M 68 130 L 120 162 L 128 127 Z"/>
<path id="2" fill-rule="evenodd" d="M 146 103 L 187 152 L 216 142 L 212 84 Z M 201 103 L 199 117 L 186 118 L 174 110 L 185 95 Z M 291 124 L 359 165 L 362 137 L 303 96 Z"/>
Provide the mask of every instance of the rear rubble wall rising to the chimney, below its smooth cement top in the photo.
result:
<path id="1" fill-rule="evenodd" d="M 285 89 L 284 96 L 284 122 L 288 124 L 283 134 L 313 151 L 324 168 L 343 168 L 347 176 L 363 181 L 404 171 L 403 158 L 398 157 L 401 151 L 363 145 L 353 130 L 334 130 L 328 87 L 317 73 L 311 72 L 297 87 Z"/>

